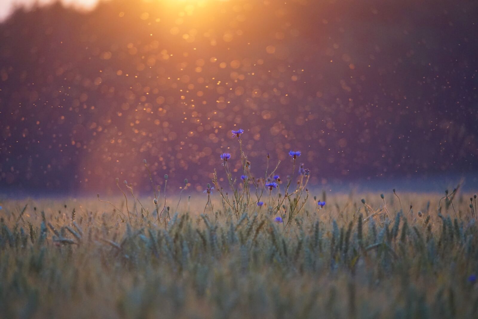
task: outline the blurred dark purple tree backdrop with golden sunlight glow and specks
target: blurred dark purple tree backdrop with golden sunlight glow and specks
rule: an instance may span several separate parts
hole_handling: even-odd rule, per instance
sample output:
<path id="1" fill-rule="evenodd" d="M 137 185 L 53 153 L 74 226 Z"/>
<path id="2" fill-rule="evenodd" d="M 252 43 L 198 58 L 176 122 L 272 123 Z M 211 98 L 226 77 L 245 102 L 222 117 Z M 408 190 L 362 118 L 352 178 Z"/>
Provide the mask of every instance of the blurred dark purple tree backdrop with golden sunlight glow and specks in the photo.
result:
<path id="1" fill-rule="evenodd" d="M 301 150 L 315 185 L 478 169 L 476 1 L 280 2 L 16 11 L 0 188 L 146 190 L 143 159 L 204 186 L 239 127 L 253 170 Z"/>

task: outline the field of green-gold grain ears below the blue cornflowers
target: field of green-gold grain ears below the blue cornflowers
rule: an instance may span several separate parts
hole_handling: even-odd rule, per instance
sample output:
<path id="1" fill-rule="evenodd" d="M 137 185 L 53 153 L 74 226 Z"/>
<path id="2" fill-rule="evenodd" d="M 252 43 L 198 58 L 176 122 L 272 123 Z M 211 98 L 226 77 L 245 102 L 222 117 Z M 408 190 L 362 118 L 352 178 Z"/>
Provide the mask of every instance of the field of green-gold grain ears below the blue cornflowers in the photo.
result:
<path id="1" fill-rule="evenodd" d="M 204 198 L 159 226 L 96 200 L 6 199 L 0 318 L 477 318 L 478 229 L 453 195 L 440 210 L 439 194 L 328 196 L 286 228 L 265 206 L 203 214 Z"/>

